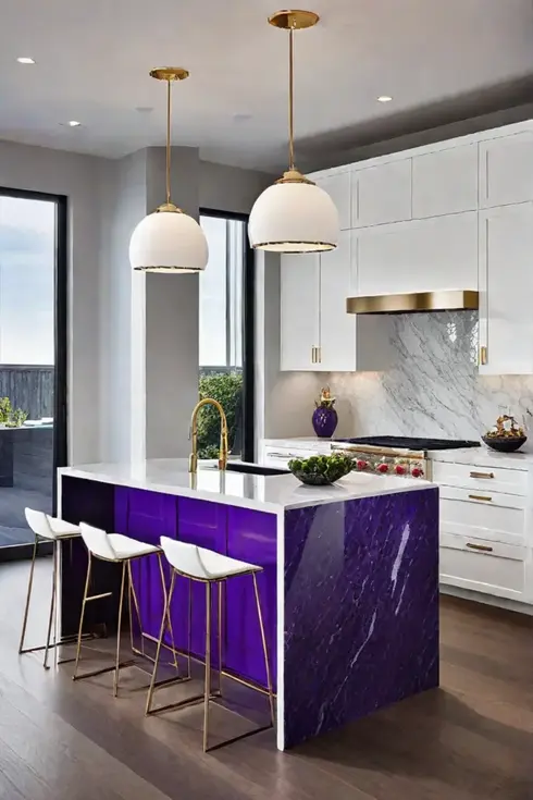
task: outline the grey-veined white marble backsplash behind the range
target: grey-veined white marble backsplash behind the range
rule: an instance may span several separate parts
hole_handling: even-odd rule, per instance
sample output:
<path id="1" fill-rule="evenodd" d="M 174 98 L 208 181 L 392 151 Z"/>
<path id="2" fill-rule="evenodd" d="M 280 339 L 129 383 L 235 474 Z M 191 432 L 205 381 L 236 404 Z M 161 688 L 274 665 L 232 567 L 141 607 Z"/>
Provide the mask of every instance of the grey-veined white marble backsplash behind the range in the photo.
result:
<path id="1" fill-rule="evenodd" d="M 533 451 L 533 376 L 480 376 L 478 312 L 391 316 L 394 367 L 332 373 L 342 435 L 479 439 L 510 411 Z M 524 450 L 528 448 L 528 445 Z"/>

